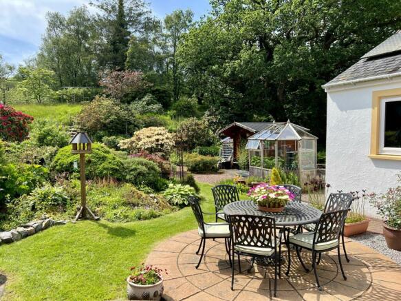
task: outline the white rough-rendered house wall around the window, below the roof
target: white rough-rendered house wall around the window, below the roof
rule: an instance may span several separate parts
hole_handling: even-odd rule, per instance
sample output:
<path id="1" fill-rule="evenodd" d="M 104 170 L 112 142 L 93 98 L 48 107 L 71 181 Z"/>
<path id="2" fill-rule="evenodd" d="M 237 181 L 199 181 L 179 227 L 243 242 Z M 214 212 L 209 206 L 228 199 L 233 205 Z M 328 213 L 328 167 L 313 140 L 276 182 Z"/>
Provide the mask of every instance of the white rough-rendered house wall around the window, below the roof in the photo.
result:
<path id="1" fill-rule="evenodd" d="M 398 185 L 401 160 L 369 158 L 372 92 L 401 87 L 400 79 L 372 81 L 327 91 L 326 182 L 331 191 L 381 193 Z M 365 203 L 365 213 L 377 217 Z"/>

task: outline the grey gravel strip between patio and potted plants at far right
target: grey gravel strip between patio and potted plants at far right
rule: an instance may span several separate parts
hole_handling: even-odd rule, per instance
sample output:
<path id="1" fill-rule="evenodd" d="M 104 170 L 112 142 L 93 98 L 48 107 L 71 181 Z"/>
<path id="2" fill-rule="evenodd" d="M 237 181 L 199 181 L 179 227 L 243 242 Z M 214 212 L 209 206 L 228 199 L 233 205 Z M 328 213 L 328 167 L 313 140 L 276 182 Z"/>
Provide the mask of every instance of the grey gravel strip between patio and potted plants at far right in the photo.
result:
<path id="1" fill-rule="evenodd" d="M 401 251 L 389 249 L 382 234 L 366 232 L 358 236 L 352 236 L 351 240 L 355 240 L 356 242 L 360 242 L 362 245 L 371 247 L 372 249 L 378 251 L 378 253 L 388 256 L 401 266 Z"/>

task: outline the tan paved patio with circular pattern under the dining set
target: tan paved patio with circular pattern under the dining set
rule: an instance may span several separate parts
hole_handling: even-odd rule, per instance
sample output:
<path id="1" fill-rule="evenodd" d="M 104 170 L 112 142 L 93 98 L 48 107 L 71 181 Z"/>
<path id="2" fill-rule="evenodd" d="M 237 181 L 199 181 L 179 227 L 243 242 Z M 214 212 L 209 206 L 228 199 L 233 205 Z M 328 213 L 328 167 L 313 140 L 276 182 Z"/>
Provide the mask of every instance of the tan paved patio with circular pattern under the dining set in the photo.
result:
<path id="1" fill-rule="evenodd" d="M 343 280 L 337 266 L 336 252 L 322 256 L 318 276 L 323 291 L 316 288 L 313 272 L 305 273 L 296 253 L 292 252 L 290 276 L 285 276 L 287 264 L 282 267 L 277 284 L 277 298 L 273 297 L 273 268 L 255 264 L 248 273 L 249 258 L 241 258 L 243 273 L 236 275 L 234 291 L 230 289 L 231 268 L 224 249 L 224 240 L 207 240 L 206 256 L 199 267 L 195 251 L 199 245 L 197 231 L 188 231 L 160 243 L 149 254 L 147 264 L 167 269 L 164 276 L 166 300 L 400 300 L 401 267 L 373 249 L 347 239 L 347 252 L 351 261 L 342 257 L 348 280 Z M 284 255 L 287 255 L 285 247 Z M 303 252 L 310 266 L 311 256 Z"/>

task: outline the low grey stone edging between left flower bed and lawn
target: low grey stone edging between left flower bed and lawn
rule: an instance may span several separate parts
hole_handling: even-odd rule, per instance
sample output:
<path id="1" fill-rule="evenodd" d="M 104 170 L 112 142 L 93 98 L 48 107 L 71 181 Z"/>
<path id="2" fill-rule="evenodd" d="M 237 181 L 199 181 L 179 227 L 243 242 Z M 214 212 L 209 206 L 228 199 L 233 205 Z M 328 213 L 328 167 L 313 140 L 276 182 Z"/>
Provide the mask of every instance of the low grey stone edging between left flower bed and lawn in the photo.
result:
<path id="1" fill-rule="evenodd" d="M 43 231 L 52 226 L 56 225 L 65 225 L 67 221 L 65 220 L 52 220 L 52 218 L 47 218 L 44 216 L 40 220 L 34 220 L 32 222 L 28 222 L 23 224 L 16 229 L 12 229 L 10 231 L 0 232 L 0 245 L 10 244 L 12 242 L 17 242 L 25 237 L 32 236 L 35 233 Z"/>

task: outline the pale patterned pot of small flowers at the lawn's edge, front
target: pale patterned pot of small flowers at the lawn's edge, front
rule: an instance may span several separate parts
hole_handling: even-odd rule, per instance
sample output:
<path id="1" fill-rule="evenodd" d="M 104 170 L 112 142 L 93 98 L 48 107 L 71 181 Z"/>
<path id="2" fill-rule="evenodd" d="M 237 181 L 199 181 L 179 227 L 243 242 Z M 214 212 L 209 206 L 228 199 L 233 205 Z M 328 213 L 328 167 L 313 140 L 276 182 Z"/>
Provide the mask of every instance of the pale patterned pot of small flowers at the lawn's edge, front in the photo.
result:
<path id="1" fill-rule="evenodd" d="M 162 269 L 145 266 L 131 267 L 131 276 L 127 278 L 129 300 L 160 300 L 164 291 Z M 164 270 L 167 274 L 167 271 Z"/>

